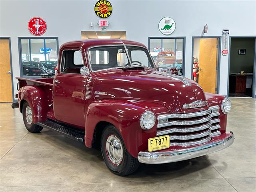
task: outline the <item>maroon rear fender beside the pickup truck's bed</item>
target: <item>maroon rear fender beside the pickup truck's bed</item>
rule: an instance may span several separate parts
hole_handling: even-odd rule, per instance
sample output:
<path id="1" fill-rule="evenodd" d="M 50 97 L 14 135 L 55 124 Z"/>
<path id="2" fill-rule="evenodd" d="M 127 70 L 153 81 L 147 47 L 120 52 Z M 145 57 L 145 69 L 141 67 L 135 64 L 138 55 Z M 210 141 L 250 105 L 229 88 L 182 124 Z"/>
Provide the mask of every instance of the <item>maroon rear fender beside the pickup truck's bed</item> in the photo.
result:
<path id="1" fill-rule="evenodd" d="M 48 94 L 40 86 L 24 86 L 18 92 L 18 102 L 22 112 L 23 102 L 28 102 L 32 110 L 33 123 L 47 120 L 49 110 Z"/>

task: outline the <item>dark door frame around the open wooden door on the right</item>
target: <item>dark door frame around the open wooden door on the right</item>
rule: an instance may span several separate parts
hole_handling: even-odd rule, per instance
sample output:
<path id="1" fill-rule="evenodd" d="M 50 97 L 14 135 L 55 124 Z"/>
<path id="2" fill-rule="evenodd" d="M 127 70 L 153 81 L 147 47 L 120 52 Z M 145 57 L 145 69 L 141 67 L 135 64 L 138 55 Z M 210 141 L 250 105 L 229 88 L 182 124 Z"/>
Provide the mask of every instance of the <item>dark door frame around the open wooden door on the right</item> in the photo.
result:
<path id="1" fill-rule="evenodd" d="M 217 58 L 217 90 L 220 93 L 220 56 L 221 56 L 221 36 L 192 36 L 192 56 L 191 56 L 191 79 L 193 80 L 193 56 L 194 56 L 194 39 L 219 38 L 218 58 Z"/>

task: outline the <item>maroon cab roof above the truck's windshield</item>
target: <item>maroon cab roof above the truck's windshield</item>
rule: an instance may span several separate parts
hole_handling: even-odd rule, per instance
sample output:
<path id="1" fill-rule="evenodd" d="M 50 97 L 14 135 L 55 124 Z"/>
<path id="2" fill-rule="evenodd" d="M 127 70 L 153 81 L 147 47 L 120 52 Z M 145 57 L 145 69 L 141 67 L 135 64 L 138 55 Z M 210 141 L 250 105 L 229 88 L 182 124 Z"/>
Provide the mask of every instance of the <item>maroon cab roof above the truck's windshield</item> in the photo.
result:
<path id="1" fill-rule="evenodd" d="M 78 47 L 78 48 L 84 48 L 88 49 L 92 46 L 102 46 L 102 45 L 137 45 L 137 46 L 146 46 L 142 43 L 135 42 L 135 41 L 129 41 L 129 40 L 121 40 L 121 39 L 85 39 L 85 40 L 76 40 L 76 41 L 70 41 L 62 44 L 60 48 L 72 48 L 72 47 Z"/>

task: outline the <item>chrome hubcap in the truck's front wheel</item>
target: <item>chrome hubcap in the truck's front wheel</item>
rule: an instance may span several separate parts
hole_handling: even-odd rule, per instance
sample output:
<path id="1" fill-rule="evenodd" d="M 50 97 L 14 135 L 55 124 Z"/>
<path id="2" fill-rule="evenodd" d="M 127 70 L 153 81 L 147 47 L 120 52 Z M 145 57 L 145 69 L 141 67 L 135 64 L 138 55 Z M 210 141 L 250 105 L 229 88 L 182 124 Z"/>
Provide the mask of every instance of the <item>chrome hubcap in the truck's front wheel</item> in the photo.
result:
<path id="1" fill-rule="evenodd" d="M 119 166 L 123 160 L 124 151 L 120 140 L 114 136 L 110 135 L 106 142 L 106 152 L 109 160 L 116 166 Z"/>

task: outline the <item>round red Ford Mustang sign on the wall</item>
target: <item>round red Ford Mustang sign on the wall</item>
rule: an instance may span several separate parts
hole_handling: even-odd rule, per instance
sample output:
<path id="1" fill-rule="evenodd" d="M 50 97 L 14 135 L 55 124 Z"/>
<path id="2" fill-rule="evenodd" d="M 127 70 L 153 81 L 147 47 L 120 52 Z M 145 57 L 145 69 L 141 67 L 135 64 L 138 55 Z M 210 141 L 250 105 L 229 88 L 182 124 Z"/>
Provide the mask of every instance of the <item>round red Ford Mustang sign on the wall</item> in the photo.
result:
<path id="1" fill-rule="evenodd" d="M 34 17 L 28 22 L 28 30 L 36 36 L 40 36 L 46 32 L 46 22 L 40 17 Z"/>

